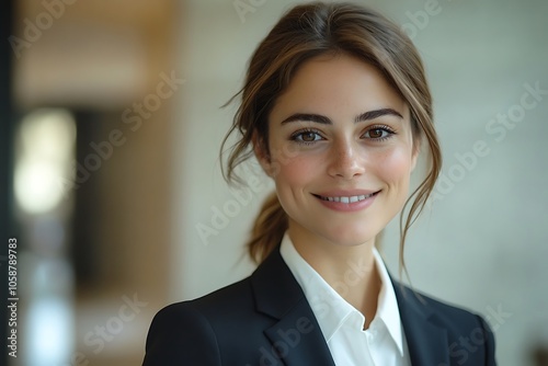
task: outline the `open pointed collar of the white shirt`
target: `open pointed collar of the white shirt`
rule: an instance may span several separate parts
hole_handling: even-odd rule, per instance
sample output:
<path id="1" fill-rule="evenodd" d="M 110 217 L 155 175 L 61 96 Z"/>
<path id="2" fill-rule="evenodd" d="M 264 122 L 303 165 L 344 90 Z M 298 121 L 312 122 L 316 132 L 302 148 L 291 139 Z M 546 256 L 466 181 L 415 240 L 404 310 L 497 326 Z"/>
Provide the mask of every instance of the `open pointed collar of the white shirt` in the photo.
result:
<path id="1" fill-rule="evenodd" d="M 363 325 L 365 320 L 364 316 L 344 300 L 318 274 L 318 272 L 300 256 L 287 232 L 282 240 L 279 253 L 295 276 L 295 279 L 302 288 L 327 342 L 329 342 L 333 334 L 349 320 L 352 321 L 353 324 L 356 323 L 356 327 Z M 377 313 L 373 321 L 380 320 L 385 324 L 388 333 L 398 346 L 400 354 L 403 355 L 403 332 L 392 282 L 376 248 L 373 249 L 373 254 L 381 282 L 381 289 L 377 302 Z M 356 267 L 350 264 L 349 271 L 356 271 Z M 340 286 L 342 287 L 341 289 L 344 290 L 343 286 L 346 286 L 346 284 L 340 284 Z"/>

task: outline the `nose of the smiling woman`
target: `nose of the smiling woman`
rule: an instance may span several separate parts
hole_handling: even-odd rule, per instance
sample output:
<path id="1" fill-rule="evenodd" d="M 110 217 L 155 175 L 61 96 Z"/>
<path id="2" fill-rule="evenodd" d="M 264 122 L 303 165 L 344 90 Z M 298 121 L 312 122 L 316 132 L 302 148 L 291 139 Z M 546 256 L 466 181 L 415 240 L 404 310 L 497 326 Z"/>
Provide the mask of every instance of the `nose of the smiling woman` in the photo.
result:
<path id="1" fill-rule="evenodd" d="M 328 173 L 333 178 L 351 180 L 365 172 L 364 151 L 356 142 L 350 140 L 338 141 L 329 151 Z"/>

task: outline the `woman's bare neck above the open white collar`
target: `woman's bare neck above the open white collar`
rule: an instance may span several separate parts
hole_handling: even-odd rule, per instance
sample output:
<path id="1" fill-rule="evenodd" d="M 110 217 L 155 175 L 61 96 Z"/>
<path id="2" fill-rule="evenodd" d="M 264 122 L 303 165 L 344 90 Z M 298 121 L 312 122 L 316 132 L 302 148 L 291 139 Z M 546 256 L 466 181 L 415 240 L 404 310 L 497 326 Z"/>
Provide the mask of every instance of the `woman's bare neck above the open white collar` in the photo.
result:
<path id="1" fill-rule="evenodd" d="M 375 240 L 358 245 L 340 245 L 310 240 L 289 231 L 295 249 L 341 297 L 361 311 L 367 328 L 377 311 L 380 276 L 375 265 Z"/>

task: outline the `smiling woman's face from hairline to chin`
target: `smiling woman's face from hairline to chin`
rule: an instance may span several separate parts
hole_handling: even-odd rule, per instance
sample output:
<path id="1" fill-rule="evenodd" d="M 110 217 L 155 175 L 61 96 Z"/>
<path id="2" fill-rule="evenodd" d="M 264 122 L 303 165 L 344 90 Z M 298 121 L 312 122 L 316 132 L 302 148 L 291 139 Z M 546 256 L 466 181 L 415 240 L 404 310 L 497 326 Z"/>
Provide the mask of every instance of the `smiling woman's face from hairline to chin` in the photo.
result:
<path id="1" fill-rule="evenodd" d="M 416 161 L 409 107 L 373 66 L 339 55 L 297 71 L 269 119 L 273 178 L 295 242 L 357 245 L 401 210 Z"/>

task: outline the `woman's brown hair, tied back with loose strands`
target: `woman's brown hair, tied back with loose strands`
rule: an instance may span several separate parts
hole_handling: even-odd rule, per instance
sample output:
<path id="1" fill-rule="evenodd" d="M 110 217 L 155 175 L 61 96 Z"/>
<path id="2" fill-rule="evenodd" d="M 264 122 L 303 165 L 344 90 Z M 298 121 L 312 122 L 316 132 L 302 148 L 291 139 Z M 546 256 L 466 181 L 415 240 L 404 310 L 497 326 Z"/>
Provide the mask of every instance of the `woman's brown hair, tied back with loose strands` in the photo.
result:
<path id="1" fill-rule="evenodd" d="M 269 114 L 299 66 L 316 56 L 339 53 L 377 67 L 409 105 L 413 140 L 427 141 L 430 171 L 400 214 L 400 270 L 406 268 L 403 247 L 408 230 L 434 188 L 442 156 L 419 53 L 411 39 L 383 15 L 351 3 L 311 2 L 289 10 L 254 52 L 244 85 L 230 100 L 241 95 L 232 126 L 222 141 L 221 156 L 235 131 L 239 133 L 239 140 L 232 146 L 222 173 L 228 182 L 241 182 L 235 169 L 253 156 L 253 142 L 269 153 Z M 403 218 L 408 205 L 409 213 Z M 249 253 L 255 262 L 264 260 L 279 244 L 287 222 L 287 215 L 273 193 L 263 204 L 249 241 Z"/>

